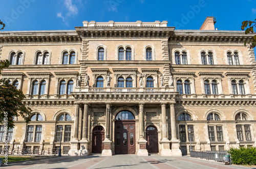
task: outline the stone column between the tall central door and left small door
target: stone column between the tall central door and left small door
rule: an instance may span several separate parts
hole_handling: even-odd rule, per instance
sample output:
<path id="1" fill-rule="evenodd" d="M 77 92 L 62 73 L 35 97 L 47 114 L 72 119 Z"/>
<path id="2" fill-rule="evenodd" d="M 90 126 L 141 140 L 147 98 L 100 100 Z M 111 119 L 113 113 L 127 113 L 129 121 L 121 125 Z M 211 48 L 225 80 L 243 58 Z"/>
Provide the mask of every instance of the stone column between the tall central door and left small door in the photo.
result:
<path id="1" fill-rule="evenodd" d="M 110 139 L 110 125 L 111 125 L 111 102 L 106 102 L 106 125 L 105 125 L 105 139 L 103 141 L 104 150 L 102 150 L 102 156 L 112 156 Z"/>

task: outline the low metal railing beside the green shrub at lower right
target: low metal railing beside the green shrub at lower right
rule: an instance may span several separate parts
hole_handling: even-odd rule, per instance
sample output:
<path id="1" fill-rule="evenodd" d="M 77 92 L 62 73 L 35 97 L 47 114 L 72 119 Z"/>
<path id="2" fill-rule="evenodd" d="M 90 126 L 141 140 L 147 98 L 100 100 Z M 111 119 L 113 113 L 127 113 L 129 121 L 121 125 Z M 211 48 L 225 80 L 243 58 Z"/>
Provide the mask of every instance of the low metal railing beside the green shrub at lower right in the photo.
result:
<path id="1" fill-rule="evenodd" d="M 191 151 L 190 157 L 194 158 L 201 158 L 201 159 L 207 159 L 207 160 L 215 160 L 215 161 L 221 161 L 224 162 L 224 155 L 229 155 L 227 151 Z"/>

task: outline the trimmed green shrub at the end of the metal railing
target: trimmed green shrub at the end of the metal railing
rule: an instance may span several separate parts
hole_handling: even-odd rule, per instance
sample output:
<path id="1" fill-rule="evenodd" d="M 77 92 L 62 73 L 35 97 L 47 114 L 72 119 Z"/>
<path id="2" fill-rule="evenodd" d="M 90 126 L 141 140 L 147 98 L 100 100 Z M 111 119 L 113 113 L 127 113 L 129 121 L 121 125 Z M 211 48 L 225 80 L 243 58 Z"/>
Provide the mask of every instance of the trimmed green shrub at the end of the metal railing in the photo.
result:
<path id="1" fill-rule="evenodd" d="M 256 147 L 230 148 L 227 152 L 234 164 L 256 165 Z"/>

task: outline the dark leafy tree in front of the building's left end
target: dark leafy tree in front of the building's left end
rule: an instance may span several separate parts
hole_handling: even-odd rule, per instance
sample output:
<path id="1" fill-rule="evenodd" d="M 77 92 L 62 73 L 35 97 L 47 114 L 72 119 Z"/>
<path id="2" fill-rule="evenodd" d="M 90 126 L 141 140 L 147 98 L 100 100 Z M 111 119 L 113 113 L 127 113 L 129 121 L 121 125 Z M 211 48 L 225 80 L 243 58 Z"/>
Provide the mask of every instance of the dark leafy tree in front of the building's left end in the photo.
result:
<path id="1" fill-rule="evenodd" d="M 9 67 L 8 60 L 0 61 L 0 74 L 3 68 Z M 8 121 L 8 128 L 14 127 L 14 117 L 21 116 L 26 123 L 30 121 L 31 109 L 26 107 L 23 100 L 26 96 L 22 90 L 17 90 L 7 80 L 0 79 L 0 120 L 2 123 Z"/>

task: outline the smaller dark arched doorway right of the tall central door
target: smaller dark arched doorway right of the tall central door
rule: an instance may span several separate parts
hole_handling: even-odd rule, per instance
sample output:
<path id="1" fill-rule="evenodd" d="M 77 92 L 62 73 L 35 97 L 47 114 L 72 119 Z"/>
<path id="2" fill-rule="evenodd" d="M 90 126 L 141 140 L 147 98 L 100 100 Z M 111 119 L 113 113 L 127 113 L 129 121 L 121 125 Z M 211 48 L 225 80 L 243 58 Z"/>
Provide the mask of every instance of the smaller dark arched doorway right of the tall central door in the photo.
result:
<path id="1" fill-rule="evenodd" d="M 146 149 L 148 153 L 158 153 L 158 133 L 155 126 L 146 128 Z"/>

